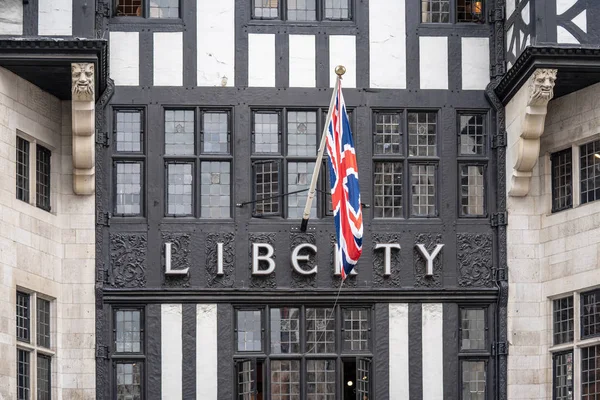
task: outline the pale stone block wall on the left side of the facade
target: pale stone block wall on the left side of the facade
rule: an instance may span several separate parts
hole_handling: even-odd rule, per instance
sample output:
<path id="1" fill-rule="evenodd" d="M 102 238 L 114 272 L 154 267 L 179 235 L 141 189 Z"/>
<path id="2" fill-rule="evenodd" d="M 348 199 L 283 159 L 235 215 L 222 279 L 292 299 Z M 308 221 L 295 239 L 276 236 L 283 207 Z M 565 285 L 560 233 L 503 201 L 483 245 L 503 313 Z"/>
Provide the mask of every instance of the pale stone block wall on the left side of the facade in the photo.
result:
<path id="1" fill-rule="evenodd" d="M 17 131 L 52 151 L 50 212 L 16 198 Z M 17 288 L 54 299 L 52 397 L 95 396 L 94 196 L 73 194 L 71 142 L 71 102 L 0 68 L 0 399 L 16 397 Z"/>

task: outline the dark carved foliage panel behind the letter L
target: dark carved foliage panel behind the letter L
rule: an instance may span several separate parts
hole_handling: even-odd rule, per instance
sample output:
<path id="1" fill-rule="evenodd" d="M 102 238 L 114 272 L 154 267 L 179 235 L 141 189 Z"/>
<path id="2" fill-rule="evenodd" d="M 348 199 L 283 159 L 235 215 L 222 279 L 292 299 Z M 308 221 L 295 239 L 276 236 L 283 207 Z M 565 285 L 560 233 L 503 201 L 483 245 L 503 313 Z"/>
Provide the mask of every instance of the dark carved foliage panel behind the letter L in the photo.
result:
<path id="1" fill-rule="evenodd" d="M 190 234 L 189 233 L 162 233 L 162 265 L 163 265 L 163 285 L 167 287 L 189 287 L 192 275 L 190 265 Z M 171 243 L 171 269 L 186 269 L 187 275 L 165 275 L 165 246 L 164 243 Z"/>

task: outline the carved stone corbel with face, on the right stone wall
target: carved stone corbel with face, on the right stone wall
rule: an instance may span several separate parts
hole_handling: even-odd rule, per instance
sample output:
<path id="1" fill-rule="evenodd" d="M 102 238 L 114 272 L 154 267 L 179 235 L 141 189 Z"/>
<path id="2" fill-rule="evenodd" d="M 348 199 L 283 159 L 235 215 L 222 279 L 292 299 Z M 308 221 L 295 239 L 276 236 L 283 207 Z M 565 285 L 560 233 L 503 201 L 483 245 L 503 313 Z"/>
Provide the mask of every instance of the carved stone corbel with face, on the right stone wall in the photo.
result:
<path id="1" fill-rule="evenodd" d="M 556 69 L 537 69 L 529 80 L 529 99 L 522 120 L 520 137 L 513 147 L 514 167 L 509 195 L 529 193 L 533 167 L 540 157 L 540 138 L 544 133 L 548 103 L 554 97 Z"/>

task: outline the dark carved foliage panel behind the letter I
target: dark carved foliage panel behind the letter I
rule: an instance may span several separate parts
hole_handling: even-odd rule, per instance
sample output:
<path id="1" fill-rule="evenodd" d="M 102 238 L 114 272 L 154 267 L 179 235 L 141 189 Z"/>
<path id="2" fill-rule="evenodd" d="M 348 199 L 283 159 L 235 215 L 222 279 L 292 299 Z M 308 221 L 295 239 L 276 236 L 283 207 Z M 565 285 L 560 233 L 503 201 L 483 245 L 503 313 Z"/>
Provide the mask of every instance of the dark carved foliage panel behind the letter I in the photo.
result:
<path id="1" fill-rule="evenodd" d="M 206 272 L 209 287 L 233 287 L 235 282 L 235 234 L 209 233 L 206 236 Z M 223 275 L 217 275 L 218 243 L 223 243 Z"/>

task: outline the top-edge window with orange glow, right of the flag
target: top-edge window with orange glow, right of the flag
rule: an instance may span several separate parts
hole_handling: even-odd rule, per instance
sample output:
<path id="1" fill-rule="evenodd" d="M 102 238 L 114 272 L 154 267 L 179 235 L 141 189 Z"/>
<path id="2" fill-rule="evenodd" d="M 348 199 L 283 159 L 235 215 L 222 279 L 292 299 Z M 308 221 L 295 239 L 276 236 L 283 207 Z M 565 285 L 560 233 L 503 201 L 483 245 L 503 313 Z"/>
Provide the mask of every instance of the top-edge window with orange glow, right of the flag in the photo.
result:
<path id="1" fill-rule="evenodd" d="M 484 15 L 483 0 L 421 0 L 421 22 L 484 22 Z"/>

